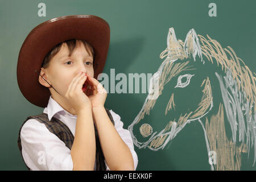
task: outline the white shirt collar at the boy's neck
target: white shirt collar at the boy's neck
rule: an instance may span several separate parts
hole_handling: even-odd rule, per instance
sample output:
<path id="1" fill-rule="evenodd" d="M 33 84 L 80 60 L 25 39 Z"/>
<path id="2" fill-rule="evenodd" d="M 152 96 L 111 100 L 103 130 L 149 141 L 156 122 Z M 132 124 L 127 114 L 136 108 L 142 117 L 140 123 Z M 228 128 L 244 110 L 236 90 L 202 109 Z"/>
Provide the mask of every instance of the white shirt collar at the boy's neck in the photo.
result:
<path id="1" fill-rule="evenodd" d="M 48 105 L 47 105 L 47 107 L 44 108 L 43 112 L 48 114 L 49 121 L 51 121 L 52 117 L 56 113 L 62 113 L 62 114 L 68 115 L 69 117 L 77 118 L 77 115 L 73 115 L 73 114 L 69 113 L 67 110 L 63 109 L 63 107 L 61 107 L 61 105 L 59 105 L 59 103 L 56 102 L 52 98 L 52 96 L 49 97 Z"/>

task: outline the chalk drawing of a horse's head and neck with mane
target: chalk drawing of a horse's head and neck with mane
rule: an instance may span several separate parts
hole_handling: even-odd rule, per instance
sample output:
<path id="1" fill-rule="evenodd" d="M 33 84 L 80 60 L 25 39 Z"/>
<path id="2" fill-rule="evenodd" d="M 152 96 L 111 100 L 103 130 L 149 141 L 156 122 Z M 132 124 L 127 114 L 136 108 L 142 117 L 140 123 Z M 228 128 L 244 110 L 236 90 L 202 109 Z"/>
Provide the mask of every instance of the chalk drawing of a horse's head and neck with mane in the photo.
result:
<path id="1" fill-rule="evenodd" d="M 231 47 L 207 37 L 192 29 L 183 42 L 169 28 L 167 48 L 160 53 L 165 59 L 128 130 L 135 146 L 158 151 L 188 123 L 199 122 L 208 154 L 217 155 L 211 169 L 240 170 L 241 154 L 249 155 L 252 147 L 256 160 L 255 73 Z"/>

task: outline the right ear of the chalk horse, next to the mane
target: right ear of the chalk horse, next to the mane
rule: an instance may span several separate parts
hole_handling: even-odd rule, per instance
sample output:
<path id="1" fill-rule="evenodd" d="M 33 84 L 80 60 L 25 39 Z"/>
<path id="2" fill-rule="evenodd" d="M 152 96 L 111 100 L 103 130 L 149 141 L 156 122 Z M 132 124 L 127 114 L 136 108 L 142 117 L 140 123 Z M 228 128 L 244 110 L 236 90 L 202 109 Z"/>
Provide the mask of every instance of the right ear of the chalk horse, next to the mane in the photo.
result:
<path id="1" fill-rule="evenodd" d="M 184 42 L 184 51 L 187 56 L 192 53 L 194 61 L 196 61 L 196 55 L 198 55 L 201 58 L 201 61 L 203 61 L 199 38 L 197 37 L 196 31 L 193 28 L 189 30 L 186 36 Z"/>

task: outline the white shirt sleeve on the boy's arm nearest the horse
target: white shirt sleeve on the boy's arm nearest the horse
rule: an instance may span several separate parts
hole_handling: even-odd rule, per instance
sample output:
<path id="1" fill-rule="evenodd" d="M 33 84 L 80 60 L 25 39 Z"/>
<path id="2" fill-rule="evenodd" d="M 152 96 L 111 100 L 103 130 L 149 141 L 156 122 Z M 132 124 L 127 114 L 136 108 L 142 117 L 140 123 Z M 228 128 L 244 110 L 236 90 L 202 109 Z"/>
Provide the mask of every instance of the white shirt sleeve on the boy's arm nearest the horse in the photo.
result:
<path id="1" fill-rule="evenodd" d="M 133 139 L 131 138 L 131 134 L 129 130 L 123 129 L 123 122 L 121 121 L 121 117 L 114 113 L 113 110 L 109 110 L 113 119 L 114 119 L 114 123 L 115 123 L 115 130 L 117 130 L 119 136 L 122 138 L 123 142 L 125 142 L 127 144 L 127 146 L 130 148 L 131 151 L 131 155 L 133 155 L 133 161 L 134 161 L 134 171 L 137 168 L 138 165 L 138 156 L 134 150 L 134 145 L 133 145 Z M 106 164 L 106 170 L 110 170 L 106 160 L 105 160 L 105 164 Z"/>

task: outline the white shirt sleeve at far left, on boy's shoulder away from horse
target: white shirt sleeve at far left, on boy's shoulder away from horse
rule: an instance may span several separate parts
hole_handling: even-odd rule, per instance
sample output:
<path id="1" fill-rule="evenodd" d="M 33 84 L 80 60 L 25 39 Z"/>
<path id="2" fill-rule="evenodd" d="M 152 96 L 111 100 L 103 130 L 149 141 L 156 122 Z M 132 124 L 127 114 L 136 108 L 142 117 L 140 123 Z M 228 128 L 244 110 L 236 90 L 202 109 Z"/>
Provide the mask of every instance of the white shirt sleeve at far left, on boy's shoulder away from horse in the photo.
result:
<path id="1" fill-rule="evenodd" d="M 31 170 L 71 171 L 71 151 L 65 143 L 36 119 L 29 119 L 20 131 L 22 156 Z"/>

